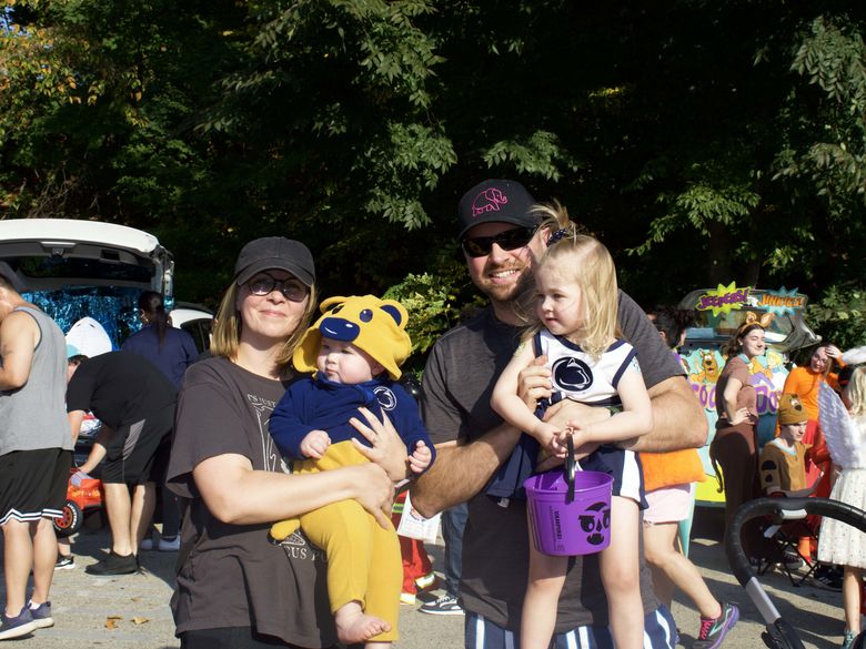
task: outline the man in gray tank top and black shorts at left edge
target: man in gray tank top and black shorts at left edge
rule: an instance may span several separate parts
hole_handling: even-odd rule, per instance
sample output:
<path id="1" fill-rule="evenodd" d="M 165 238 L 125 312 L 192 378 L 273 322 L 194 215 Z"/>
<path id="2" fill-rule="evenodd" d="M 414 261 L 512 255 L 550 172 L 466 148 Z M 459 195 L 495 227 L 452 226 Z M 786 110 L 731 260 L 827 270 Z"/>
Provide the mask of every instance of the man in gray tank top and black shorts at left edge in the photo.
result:
<path id="1" fill-rule="evenodd" d="M 53 519 L 62 516 L 72 435 L 66 420 L 66 339 L 23 297 L 18 274 L 0 262 L 0 528 L 6 609 L 0 640 L 50 627 L 57 560 Z M 27 581 L 33 592 L 27 602 Z"/>

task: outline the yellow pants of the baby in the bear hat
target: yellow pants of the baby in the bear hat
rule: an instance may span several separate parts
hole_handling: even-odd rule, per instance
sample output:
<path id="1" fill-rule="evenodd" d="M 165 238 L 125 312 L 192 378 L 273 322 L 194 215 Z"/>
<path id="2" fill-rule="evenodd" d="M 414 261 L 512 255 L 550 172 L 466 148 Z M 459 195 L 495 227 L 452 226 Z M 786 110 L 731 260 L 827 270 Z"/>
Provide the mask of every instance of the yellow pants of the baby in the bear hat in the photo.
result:
<path id="1" fill-rule="evenodd" d="M 366 462 L 370 460 L 351 442 L 340 442 L 331 445 L 321 459 L 296 463 L 294 470 L 313 474 Z M 356 500 L 340 500 L 302 515 L 300 527 L 328 556 L 331 611 L 350 601 L 360 601 L 364 612 L 391 625 L 391 631 L 369 641 L 396 640 L 403 568 L 400 541 L 391 523 L 389 529 L 383 529 Z M 271 535 L 283 539 L 296 528 L 296 520 L 284 520 L 274 524 Z"/>

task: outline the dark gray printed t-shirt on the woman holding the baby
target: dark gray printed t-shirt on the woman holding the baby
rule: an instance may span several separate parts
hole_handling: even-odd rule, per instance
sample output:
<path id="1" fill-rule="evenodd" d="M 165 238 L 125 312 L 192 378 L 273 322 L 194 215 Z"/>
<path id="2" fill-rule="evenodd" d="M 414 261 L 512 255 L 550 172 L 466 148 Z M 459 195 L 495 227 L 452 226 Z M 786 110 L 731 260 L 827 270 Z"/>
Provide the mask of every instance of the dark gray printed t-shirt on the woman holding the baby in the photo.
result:
<path id="1" fill-rule="evenodd" d="M 192 478 L 197 465 L 224 454 L 249 458 L 256 470 L 282 471 L 268 426 L 285 387 L 221 357 L 187 372 L 167 477 L 175 494 L 191 499 L 171 601 L 178 633 L 252 626 L 303 647 L 336 641 L 322 552 L 300 533 L 276 546 L 268 539 L 270 525 L 221 523 Z"/>

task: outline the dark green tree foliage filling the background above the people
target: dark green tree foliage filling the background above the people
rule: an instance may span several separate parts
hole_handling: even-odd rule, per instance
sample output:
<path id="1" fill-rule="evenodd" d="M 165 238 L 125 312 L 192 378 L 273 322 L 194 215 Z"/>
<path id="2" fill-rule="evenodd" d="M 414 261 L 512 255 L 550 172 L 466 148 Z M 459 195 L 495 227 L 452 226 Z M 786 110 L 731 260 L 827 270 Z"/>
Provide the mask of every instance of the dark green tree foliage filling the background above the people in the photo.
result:
<path id="1" fill-rule="evenodd" d="M 416 304 L 423 349 L 471 300 L 456 202 L 496 176 L 566 204 L 645 304 L 736 281 L 838 286 L 842 313 L 863 284 L 862 3 L 4 6 L 3 216 L 153 231 L 183 297 L 286 234 L 325 295 Z"/>

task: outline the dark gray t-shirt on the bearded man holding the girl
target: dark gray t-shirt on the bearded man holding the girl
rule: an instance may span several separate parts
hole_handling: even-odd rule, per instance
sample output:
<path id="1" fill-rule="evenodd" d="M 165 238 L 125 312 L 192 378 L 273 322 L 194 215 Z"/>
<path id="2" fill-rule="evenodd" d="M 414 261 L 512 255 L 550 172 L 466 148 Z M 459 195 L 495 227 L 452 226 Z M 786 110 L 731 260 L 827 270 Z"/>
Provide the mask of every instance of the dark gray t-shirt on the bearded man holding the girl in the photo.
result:
<path id="1" fill-rule="evenodd" d="M 623 337 L 637 349 L 647 388 L 682 375 L 669 349 L 635 302 L 620 293 Z M 502 371 L 520 342 L 522 329 L 496 320 L 492 308 L 446 333 L 434 345 L 424 369 L 422 415 L 435 444 L 472 440 L 502 424 L 490 398 Z M 454 479 L 460 479 L 455 476 Z M 463 535 L 461 597 L 466 610 L 500 627 L 520 627 L 528 577 L 526 507 L 482 494 L 469 501 Z M 584 625 L 607 625 L 607 600 L 597 555 L 570 560 L 565 588 L 560 596 L 556 632 Z M 642 561 L 641 595 L 644 610 L 658 604 Z"/>

